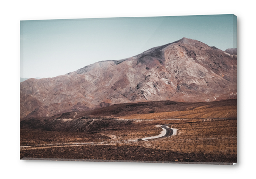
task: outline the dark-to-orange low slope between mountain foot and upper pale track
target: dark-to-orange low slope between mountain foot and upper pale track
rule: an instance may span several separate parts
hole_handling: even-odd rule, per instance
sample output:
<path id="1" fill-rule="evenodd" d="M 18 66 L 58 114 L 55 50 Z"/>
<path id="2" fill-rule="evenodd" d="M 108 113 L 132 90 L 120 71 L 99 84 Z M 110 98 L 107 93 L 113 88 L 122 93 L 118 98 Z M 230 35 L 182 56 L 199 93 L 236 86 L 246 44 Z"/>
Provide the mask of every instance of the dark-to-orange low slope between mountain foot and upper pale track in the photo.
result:
<path id="1" fill-rule="evenodd" d="M 201 118 L 214 118 L 215 117 L 233 117 L 236 116 L 236 105 L 237 99 L 214 101 L 214 102 L 174 102 L 174 101 L 154 101 L 154 102 L 139 102 L 139 103 L 128 103 L 128 104 L 115 104 L 100 109 L 95 109 L 91 111 L 76 111 L 67 112 L 60 115 L 53 116 L 52 118 L 58 119 L 73 119 L 73 116 L 76 114 L 77 118 L 86 116 L 87 118 L 102 118 L 106 117 L 121 117 L 126 119 L 136 119 L 135 116 L 139 114 L 147 114 L 147 118 L 150 115 L 152 119 L 155 119 L 154 114 L 160 114 L 164 112 L 177 112 L 177 113 L 167 113 L 169 118 L 176 118 L 178 116 L 182 118 L 187 118 L 183 116 L 184 114 L 197 114 L 197 116 L 188 116 L 188 119 L 200 118 L 200 115 L 209 113 L 208 116 L 202 116 Z M 225 109 L 225 110 L 223 110 Z M 214 111 L 219 112 L 228 112 L 228 114 L 219 114 Z M 211 112 L 211 113 L 210 113 Z M 235 112 L 235 113 L 234 113 Z M 234 113 L 234 114 L 233 114 Z M 174 114 L 174 115 L 171 115 Z M 160 119 L 162 119 L 161 116 Z M 138 117 L 140 119 L 141 117 Z"/>

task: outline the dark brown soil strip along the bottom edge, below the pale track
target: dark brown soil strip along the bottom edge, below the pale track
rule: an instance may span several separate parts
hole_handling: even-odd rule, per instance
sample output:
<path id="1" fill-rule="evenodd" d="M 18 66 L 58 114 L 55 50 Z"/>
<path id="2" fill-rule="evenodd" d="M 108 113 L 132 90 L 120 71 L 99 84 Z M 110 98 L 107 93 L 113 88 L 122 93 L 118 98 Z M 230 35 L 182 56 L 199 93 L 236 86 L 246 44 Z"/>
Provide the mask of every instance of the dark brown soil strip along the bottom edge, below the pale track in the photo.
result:
<path id="1" fill-rule="evenodd" d="M 180 161 L 180 162 L 236 162 L 232 155 L 209 155 L 202 153 L 179 153 L 156 150 L 142 146 L 77 146 L 22 150 L 23 157 L 59 159 Z"/>

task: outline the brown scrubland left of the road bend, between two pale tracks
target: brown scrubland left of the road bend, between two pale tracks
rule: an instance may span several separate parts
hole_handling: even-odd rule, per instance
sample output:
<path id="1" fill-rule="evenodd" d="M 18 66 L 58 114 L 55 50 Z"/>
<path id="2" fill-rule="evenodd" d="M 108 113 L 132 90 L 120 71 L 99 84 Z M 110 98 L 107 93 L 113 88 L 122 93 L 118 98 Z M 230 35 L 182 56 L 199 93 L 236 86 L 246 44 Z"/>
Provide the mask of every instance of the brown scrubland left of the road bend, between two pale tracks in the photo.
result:
<path id="1" fill-rule="evenodd" d="M 115 119 L 27 119 L 21 121 L 21 139 L 24 144 L 36 144 L 39 141 L 44 144 L 52 140 L 58 143 L 75 142 L 75 138 L 79 139 L 77 142 L 136 140 L 160 134 L 162 128 L 156 127 L 158 123 L 161 124 Z M 80 137 L 86 139 L 81 140 Z"/>

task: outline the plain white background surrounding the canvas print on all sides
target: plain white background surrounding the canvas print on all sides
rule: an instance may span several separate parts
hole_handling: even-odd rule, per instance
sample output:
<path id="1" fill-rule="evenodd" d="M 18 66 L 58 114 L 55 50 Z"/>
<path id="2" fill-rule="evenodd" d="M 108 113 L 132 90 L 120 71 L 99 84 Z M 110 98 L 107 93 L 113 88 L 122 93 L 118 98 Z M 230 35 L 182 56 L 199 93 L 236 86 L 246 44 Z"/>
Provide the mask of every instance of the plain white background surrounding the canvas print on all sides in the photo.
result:
<path id="1" fill-rule="evenodd" d="M 0 176 L 45 178 L 254 178 L 255 4 L 252 0 L 5 0 L 0 2 Z M 235 14 L 238 20 L 238 164 L 234 166 L 19 160 L 19 21 Z"/>

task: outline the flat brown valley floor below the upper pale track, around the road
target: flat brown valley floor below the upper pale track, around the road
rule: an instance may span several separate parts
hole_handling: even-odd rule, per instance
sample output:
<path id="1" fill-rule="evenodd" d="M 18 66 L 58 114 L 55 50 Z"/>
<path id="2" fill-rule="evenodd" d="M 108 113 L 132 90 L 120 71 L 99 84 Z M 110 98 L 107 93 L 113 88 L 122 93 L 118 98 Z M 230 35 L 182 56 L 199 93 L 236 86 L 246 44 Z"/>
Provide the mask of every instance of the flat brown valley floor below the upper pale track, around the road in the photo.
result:
<path id="1" fill-rule="evenodd" d="M 33 121 L 34 126 L 36 126 L 35 121 Z M 21 147 L 21 159 L 210 162 L 216 164 L 237 162 L 236 119 L 71 119 L 68 121 L 51 119 L 43 120 L 43 123 L 39 120 L 41 129 L 28 129 L 28 123 L 23 125 L 24 129 L 21 129 L 21 146 L 34 146 Z M 79 123 L 80 128 L 74 126 L 76 123 Z M 50 124 L 53 126 L 51 131 L 42 130 Z M 57 126 L 62 124 L 70 128 L 61 131 Z M 169 124 L 169 127 L 176 128 L 177 135 L 137 141 L 139 138 L 158 135 L 162 130 L 160 128 L 162 124 Z M 129 140 L 133 141 L 127 142 Z M 60 145 L 62 143 L 69 145 Z M 74 143 L 91 144 L 75 145 Z M 37 146 L 38 144 L 40 145 Z"/>

